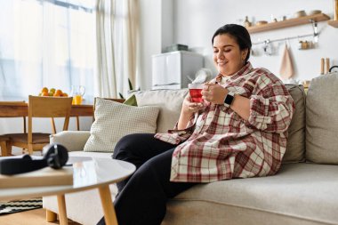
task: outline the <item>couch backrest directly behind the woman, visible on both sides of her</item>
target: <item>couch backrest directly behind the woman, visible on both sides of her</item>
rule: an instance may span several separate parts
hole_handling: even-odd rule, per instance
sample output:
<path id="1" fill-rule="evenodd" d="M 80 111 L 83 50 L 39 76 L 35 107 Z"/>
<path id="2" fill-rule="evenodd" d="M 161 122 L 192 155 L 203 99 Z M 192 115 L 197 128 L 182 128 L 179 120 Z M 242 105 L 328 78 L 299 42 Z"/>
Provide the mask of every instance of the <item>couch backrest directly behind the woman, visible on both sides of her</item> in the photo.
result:
<path id="1" fill-rule="evenodd" d="M 295 103 L 294 117 L 289 127 L 285 163 L 301 162 L 305 155 L 305 93 L 302 85 L 286 84 Z M 178 121 L 181 104 L 188 89 L 153 90 L 133 92 L 138 106 L 156 105 L 160 107 L 157 118 L 157 133 L 166 133 Z"/>

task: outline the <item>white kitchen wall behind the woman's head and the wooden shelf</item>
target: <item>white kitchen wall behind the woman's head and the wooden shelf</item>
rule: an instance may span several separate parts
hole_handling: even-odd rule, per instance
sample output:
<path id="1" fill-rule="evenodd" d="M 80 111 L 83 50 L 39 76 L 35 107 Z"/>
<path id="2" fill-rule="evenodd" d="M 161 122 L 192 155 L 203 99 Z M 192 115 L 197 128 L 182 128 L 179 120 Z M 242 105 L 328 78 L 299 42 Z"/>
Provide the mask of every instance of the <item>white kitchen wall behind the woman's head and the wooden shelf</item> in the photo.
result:
<path id="1" fill-rule="evenodd" d="M 226 23 L 243 23 L 245 16 L 249 20 L 268 20 L 271 14 L 280 18 L 283 15 L 293 16 L 294 12 L 321 10 L 331 18 L 334 13 L 332 0 L 173 0 L 174 43 L 188 44 L 195 52 L 205 55 L 205 67 L 213 68 L 211 37 L 213 32 Z M 241 21 L 240 21 L 241 20 Z M 306 80 L 318 76 L 320 58 L 330 58 L 331 65 L 338 65 L 338 28 L 319 22 L 321 32 L 318 47 L 312 50 L 298 50 L 298 40 L 290 40 L 290 50 L 294 59 L 295 79 Z M 313 33 L 311 25 L 271 30 L 251 35 L 252 42 L 265 39 L 279 39 L 287 36 L 302 36 Z M 302 40 L 311 40 L 311 37 Z M 276 54 L 251 57 L 254 67 L 270 69 L 278 75 L 285 42 L 274 43 Z M 262 44 L 254 45 L 254 50 L 262 52 Z M 213 69 L 214 73 L 216 71 Z"/>

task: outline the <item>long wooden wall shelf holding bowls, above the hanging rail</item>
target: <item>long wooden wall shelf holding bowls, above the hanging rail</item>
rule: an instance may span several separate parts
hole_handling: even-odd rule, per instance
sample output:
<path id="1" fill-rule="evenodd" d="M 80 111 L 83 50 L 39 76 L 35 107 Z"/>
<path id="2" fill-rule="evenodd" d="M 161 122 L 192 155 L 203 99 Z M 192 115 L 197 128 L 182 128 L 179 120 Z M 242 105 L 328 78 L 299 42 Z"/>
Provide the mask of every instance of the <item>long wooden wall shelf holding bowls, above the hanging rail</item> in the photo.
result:
<path id="1" fill-rule="evenodd" d="M 262 24 L 258 26 L 253 26 L 250 28 L 247 28 L 249 33 L 254 34 L 262 31 L 268 31 L 272 29 L 278 29 L 278 28 L 288 28 L 288 27 L 294 27 L 306 23 L 310 23 L 310 20 L 314 21 L 325 21 L 325 20 L 330 20 L 330 17 L 327 16 L 324 13 L 318 13 L 315 15 L 310 15 L 310 16 L 302 16 L 299 18 L 293 18 L 289 20 L 283 20 L 283 21 L 278 21 L 278 22 L 270 22 L 267 24 Z"/>

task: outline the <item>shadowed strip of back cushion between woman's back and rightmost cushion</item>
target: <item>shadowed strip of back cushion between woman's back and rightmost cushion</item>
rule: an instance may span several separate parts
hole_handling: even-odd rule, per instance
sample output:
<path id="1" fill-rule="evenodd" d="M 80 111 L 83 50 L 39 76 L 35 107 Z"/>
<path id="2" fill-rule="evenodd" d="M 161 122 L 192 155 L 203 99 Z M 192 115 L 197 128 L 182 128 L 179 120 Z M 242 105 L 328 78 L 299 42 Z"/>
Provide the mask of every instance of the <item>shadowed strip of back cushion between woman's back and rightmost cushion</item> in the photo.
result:
<path id="1" fill-rule="evenodd" d="M 288 128 L 283 163 L 302 162 L 305 158 L 305 92 L 302 85 L 286 84 L 294 100 L 294 117 Z"/>

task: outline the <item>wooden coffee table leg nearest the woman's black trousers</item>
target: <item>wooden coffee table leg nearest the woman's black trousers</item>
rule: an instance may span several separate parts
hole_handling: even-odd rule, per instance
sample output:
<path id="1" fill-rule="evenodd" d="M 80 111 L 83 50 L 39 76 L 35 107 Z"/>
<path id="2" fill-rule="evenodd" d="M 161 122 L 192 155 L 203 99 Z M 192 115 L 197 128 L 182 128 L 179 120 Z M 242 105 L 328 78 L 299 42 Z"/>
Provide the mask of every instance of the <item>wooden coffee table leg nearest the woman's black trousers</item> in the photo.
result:
<path id="1" fill-rule="evenodd" d="M 117 225 L 117 215 L 115 213 L 113 201 L 111 200 L 109 185 L 100 187 L 99 193 L 106 225 Z"/>

